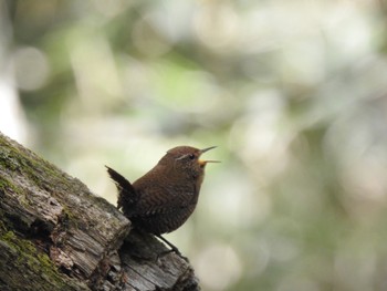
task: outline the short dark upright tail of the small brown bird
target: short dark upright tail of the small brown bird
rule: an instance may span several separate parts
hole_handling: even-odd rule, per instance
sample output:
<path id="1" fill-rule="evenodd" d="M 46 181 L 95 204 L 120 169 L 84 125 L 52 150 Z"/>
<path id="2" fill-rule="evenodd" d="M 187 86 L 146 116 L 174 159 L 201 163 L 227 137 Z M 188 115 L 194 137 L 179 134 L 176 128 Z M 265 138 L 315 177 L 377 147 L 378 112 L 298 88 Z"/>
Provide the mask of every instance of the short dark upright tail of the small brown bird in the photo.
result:
<path id="1" fill-rule="evenodd" d="M 107 168 L 108 175 L 114 180 L 118 189 L 117 208 L 123 208 L 124 214 L 129 214 L 132 206 L 138 200 L 138 195 L 135 188 L 132 186 L 130 181 L 128 181 L 121 174 L 107 166 L 105 167 Z"/>

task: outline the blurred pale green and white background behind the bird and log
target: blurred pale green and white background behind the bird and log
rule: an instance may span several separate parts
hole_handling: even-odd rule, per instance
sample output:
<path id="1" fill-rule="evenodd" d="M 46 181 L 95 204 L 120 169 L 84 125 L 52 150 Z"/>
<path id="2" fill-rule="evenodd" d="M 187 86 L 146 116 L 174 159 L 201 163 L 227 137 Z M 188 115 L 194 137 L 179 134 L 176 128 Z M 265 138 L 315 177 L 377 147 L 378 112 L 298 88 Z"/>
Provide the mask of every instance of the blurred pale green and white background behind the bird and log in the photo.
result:
<path id="1" fill-rule="evenodd" d="M 111 202 L 219 147 L 167 235 L 203 290 L 387 290 L 387 4 L 0 0 L 0 131 Z"/>

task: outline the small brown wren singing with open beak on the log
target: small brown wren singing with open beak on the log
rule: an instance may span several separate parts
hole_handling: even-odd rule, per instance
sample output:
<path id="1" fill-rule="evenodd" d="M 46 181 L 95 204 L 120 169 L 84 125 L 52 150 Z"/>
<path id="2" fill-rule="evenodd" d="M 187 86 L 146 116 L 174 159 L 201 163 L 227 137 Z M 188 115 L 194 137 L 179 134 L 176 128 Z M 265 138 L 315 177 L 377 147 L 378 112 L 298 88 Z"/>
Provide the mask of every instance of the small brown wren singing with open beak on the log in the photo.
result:
<path id="1" fill-rule="evenodd" d="M 117 208 L 123 209 L 135 228 L 157 236 L 180 254 L 161 235 L 179 228 L 194 212 L 207 163 L 219 163 L 199 159 L 212 148 L 174 147 L 133 185 L 107 167 L 118 188 Z"/>

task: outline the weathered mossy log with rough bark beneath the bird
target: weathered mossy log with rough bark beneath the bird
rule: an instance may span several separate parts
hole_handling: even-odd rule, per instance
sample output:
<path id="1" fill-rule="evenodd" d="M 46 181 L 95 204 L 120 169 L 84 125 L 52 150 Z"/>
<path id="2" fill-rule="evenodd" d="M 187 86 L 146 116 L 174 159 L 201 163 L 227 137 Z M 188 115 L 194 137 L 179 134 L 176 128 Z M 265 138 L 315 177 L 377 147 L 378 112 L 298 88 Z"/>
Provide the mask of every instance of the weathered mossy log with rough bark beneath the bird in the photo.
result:
<path id="1" fill-rule="evenodd" d="M 0 290 L 199 290 L 192 268 L 0 133 Z"/>

